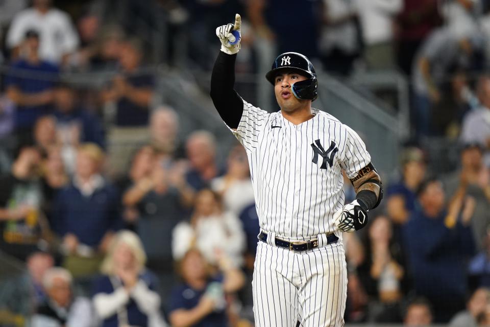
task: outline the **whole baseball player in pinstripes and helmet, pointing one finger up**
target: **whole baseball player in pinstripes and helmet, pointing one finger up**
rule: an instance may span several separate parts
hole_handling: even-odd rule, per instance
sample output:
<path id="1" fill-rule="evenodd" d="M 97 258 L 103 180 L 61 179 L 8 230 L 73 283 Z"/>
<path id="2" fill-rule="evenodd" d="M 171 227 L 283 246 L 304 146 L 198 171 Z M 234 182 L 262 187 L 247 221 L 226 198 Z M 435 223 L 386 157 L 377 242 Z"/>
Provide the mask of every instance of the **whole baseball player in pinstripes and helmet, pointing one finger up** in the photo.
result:
<path id="1" fill-rule="evenodd" d="M 260 222 L 253 275 L 256 326 L 342 326 L 347 268 L 342 231 L 367 223 L 382 198 L 379 175 L 359 136 L 312 108 L 316 73 L 305 56 L 288 52 L 265 77 L 281 110 L 268 113 L 233 89 L 240 50 L 240 15 L 216 29 L 222 43 L 211 98 L 247 150 Z M 344 204 L 342 170 L 356 190 Z"/>

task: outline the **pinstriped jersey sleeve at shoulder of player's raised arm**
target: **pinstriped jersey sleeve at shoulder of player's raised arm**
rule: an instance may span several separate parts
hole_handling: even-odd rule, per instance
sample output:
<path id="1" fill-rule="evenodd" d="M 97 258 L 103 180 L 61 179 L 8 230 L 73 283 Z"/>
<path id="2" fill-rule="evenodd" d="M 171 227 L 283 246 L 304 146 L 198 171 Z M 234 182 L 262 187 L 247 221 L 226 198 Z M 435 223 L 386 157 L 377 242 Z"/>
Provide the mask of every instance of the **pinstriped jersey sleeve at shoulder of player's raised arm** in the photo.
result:
<path id="1" fill-rule="evenodd" d="M 243 112 L 238 128 L 236 130 L 229 126 L 228 128 L 248 152 L 253 152 L 257 148 L 258 135 L 263 130 L 269 115 L 267 111 L 243 100 Z"/>

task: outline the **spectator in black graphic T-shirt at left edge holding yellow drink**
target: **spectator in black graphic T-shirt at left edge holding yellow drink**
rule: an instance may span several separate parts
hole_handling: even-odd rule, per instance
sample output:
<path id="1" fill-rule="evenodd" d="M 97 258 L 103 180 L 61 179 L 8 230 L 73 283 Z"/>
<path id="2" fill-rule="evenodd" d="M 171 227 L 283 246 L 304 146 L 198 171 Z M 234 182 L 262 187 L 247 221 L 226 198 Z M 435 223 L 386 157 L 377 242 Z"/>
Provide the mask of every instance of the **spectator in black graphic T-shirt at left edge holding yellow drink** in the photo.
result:
<path id="1" fill-rule="evenodd" d="M 35 148 L 20 149 L 12 171 L 0 178 L 0 248 L 25 260 L 45 236 L 39 181 L 41 156 Z"/>

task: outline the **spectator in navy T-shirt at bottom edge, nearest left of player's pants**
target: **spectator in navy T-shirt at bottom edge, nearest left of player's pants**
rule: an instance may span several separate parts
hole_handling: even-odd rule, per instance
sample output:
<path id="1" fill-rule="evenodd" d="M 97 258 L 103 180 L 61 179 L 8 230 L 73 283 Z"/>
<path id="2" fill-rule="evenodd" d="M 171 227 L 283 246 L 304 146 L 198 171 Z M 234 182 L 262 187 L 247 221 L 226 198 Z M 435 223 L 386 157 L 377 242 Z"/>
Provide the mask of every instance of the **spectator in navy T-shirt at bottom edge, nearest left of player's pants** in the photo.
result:
<path id="1" fill-rule="evenodd" d="M 243 274 L 226 262 L 219 264 L 220 273 L 212 275 L 203 255 L 188 250 L 179 263 L 183 284 L 171 295 L 169 320 L 174 327 L 226 327 L 226 294 L 243 286 Z"/>

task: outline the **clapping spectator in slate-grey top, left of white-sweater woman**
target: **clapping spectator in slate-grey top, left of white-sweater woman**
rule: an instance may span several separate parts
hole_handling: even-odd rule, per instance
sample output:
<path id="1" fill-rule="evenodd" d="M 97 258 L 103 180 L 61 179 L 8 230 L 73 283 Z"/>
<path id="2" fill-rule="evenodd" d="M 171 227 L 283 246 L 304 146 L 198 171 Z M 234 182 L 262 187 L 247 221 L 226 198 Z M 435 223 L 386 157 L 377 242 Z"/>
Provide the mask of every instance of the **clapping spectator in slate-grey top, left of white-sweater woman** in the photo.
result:
<path id="1" fill-rule="evenodd" d="M 122 196 L 126 225 L 141 238 L 148 267 L 160 277 L 160 294 L 164 295 L 169 294 L 175 279 L 169 265 L 173 260 L 171 233 L 182 219 L 183 207 L 193 198 L 193 191 L 185 185 L 184 171 L 175 167 L 171 161 L 158 160 L 152 147 L 141 148 L 133 158 Z M 162 300 L 166 305 L 167 297 Z"/>

